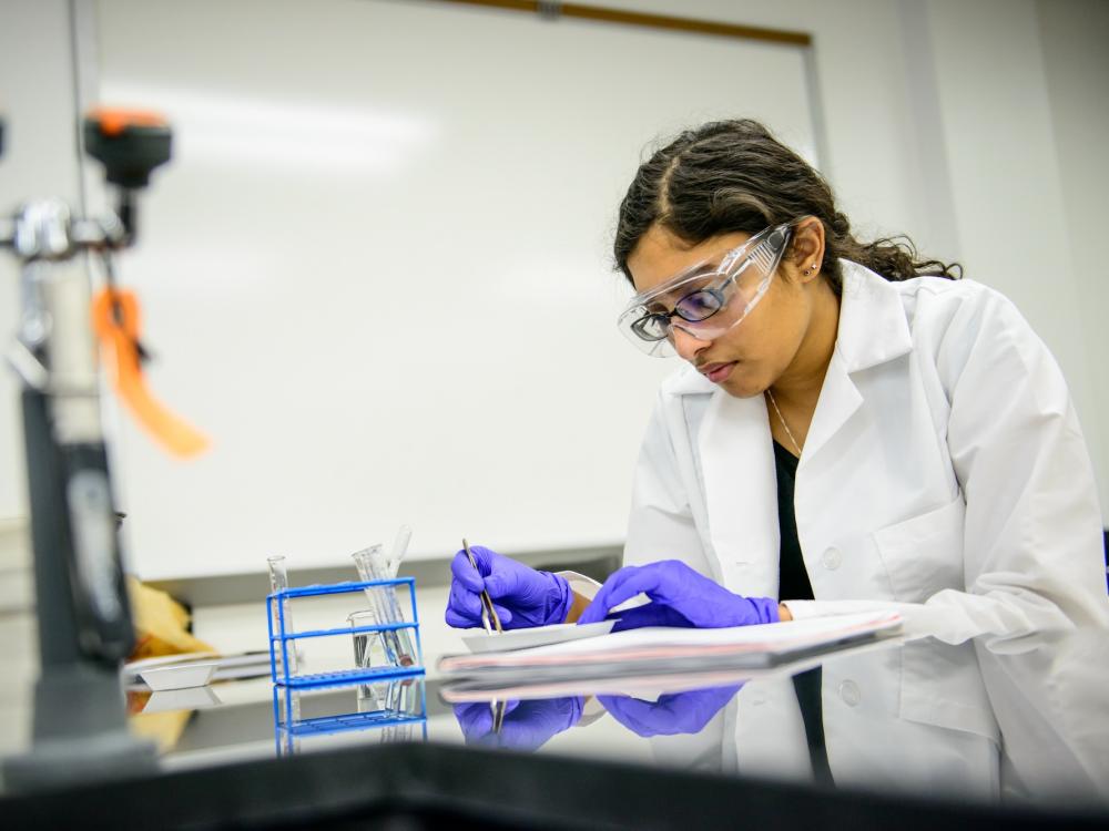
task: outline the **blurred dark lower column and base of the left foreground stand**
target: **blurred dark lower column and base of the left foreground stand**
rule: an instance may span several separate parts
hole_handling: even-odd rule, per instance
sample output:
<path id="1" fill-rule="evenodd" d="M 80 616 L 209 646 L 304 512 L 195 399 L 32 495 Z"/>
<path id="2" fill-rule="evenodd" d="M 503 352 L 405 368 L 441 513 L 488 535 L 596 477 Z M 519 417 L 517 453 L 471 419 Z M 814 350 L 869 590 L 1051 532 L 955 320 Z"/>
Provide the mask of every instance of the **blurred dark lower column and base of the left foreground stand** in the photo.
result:
<path id="1" fill-rule="evenodd" d="M 26 755 L 4 760 L 6 787 L 26 792 L 151 771 L 154 746 L 129 732 L 120 683 L 119 660 L 131 649 L 133 634 L 114 529 L 108 552 L 114 564 L 79 562 L 82 545 L 74 542 L 75 533 L 89 533 L 74 529 L 74 516 L 78 523 L 99 522 L 74 511 L 72 483 L 99 476 L 106 484 L 104 449 L 60 448 L 52 439 L 48 397 L 24 390 L 22 402 L 41 674 L 34 687 L 33 745 Z M 110 504 L 99 507 L 114 519 Z M 83 547 L 87 554 L 89 545 Z M 113 585 L 91 592 L 74 585 L 92 573 L 114 575 Z M 122 615 L 105 618 L 88 608 L 98 597 L 110 603 L 103 598 L 113 596 L 124 604 Z M 113 620 L 108 629 L 104 619 Z"/>

